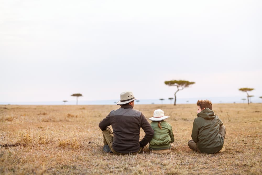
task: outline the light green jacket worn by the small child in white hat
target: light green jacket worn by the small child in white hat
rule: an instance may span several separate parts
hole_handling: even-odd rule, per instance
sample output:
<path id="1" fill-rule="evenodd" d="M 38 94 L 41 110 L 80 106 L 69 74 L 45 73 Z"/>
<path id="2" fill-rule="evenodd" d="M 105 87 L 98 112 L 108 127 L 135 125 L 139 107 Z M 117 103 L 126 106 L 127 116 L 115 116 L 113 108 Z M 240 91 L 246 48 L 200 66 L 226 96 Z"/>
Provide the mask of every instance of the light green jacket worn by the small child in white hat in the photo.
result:
<path id="1" fill-rule="evenodd" d="M 158 121 L 152 121 L 150 123 L 151 127 L 154 130 L 154 135 L 151 141 L 149 142 L 150 150 L 165 150 L 170 149 L 170 143 L 174 142 L 174 134 L 172 131 L 172 126 L 166 121 L 161 121 L 160 129 L 158 127 Z"/>

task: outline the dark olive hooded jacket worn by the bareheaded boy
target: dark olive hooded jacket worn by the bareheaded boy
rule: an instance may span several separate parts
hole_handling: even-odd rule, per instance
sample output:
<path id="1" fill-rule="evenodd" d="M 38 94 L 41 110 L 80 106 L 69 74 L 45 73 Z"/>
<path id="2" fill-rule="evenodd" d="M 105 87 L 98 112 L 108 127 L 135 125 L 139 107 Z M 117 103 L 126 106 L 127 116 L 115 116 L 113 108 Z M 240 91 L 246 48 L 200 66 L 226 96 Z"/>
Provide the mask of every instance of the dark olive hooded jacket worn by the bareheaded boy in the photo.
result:
<path id="1" fill-rule="evenodd" d="M 219 134 L 219 127 L 223 122 L 209 108 L 202 110 L 197 116 L 191 135 L 193 141 L 202 153 L 219 152 L 224 144 L 224 139 Z"/>

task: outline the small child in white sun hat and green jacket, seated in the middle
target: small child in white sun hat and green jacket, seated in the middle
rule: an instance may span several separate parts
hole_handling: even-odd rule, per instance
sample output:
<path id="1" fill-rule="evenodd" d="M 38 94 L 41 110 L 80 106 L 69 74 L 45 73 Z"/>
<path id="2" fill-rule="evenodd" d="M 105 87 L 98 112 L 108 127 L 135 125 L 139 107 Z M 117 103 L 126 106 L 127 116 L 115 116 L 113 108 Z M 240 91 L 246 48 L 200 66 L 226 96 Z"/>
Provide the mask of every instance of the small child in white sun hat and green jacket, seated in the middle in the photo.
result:
<path id="1" fill-rule="evenodd" d="M 149 118 L 152 120 L 150 123 L 154 130 L 154 135 L 149 142 L 149 150 L 157 154 L 167 154 L 171 152 L 174 142 L 174 134 L 172 131 L 172 126 L 164 121 L 169 118 L 165 116 L 164 111 L 157 109 L 154 111 L 154 116 Z"/>

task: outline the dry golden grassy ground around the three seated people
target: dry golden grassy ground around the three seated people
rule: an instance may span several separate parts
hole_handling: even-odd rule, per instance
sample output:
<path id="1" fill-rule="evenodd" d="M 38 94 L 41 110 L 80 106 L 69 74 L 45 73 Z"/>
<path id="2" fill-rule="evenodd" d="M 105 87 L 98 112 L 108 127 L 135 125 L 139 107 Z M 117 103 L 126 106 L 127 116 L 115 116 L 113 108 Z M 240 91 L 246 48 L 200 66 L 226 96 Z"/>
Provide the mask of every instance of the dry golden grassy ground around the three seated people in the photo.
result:
<path id="1" fill-rule="evenodd" d="M 0 105 L 0 174 L 261 174 L 262 104 L 213 104 L 226 126 L 226 150 L 190 150 L 196 105 L 136 105 L 146 118 L 162 109 L 174 149 L 138 155 L 102 151 L 99 122 L 118 105 Z M 141 130 L 140 138 L 144 136 Z"/>

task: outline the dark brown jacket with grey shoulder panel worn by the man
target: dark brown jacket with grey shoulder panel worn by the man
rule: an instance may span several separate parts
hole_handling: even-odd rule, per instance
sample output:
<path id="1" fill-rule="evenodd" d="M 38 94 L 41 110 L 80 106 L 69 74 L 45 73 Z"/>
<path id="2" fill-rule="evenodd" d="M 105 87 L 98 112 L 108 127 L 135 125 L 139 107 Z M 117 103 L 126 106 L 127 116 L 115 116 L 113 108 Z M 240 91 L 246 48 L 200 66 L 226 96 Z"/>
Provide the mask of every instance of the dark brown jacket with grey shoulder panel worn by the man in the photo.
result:
<path id="1" fill-rule="evenodd" d="M 100 121 L 99 128 L 105 130 L 110 125 L 114 133 L 113 149 L 119 153 L 139 151 L 140 147 L 146 146 L 154 135 L 154 130 L 142 112 L 133 109 L 129 104 L 112 110 L 106 118 Z M 139 142 L 140 128 L 146 135 Z"/>

